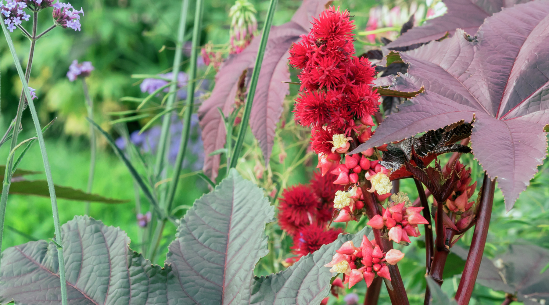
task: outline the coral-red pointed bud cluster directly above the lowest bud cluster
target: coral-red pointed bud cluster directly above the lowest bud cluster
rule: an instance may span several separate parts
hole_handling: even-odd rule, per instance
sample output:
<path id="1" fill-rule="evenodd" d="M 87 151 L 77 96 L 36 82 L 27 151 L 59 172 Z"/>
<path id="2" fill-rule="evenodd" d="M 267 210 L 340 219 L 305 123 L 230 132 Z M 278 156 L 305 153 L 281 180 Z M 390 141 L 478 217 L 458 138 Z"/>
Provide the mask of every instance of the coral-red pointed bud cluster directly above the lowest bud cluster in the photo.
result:
<path id="1" fill-rule="evenodd" d="M 382 215 L 372 217 L 367 225 L 378 230 L 387 229 L 389 240 L 411 242 L 408 236 L 421 235 L 417 225 L 429 222 L 419 214 L 423 207 L 406 207 L 405 204 L 406 202 L 393 202 L 387 208 L 382 207 Z"/>

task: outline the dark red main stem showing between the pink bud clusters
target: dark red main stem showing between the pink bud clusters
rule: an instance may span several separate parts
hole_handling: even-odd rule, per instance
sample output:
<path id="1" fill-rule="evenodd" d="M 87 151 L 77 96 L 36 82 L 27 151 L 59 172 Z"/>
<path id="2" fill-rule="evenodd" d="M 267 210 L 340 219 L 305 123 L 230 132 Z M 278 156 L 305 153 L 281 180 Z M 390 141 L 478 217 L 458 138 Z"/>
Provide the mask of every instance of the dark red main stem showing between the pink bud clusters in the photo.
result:
<path id="1" fill-rule="evenodd" d="M 369 219 L 376 215 L 381 215 L 379 211 L 378 203 L 376 196 L 373 193 L 370 193 L 367 189 L 371 187 L 370 182 L 366 181 L 362 185 L 362 196 L 364 197 L 364 206 L 366 208 L 366 214 Z M 379 245 L 383 252 L 387 252 L 393 248 L 393 242 L 383 238 L 381 230 L 373 229 L 374 237 L 376 243 Z M 387 292 L 389 292 L 389 298 L 393 305 L 408 305 L 408 296 L 406 295 L 406 289 L 404 283 L 402 283 L 402 276 L 400 276 L 399 267 L 395 265 L 389 265 L 389 274 L 391 275 L 391 287 L 387 287 Z"/>

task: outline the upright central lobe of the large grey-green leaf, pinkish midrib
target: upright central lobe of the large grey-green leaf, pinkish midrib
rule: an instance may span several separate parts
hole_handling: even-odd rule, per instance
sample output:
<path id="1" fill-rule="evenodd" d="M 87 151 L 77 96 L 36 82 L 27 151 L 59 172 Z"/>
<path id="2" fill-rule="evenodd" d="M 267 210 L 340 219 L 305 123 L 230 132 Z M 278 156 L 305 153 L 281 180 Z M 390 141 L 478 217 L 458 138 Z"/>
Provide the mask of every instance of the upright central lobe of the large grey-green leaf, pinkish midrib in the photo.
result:
<path id="1" fill-rule="evenodd" d="M 247 303 L 255 264 L 268 253 L 265 224 L 274 216 L 264 192 L 234 169 L 198 199 L 167 255 L 178 303 Z"/>

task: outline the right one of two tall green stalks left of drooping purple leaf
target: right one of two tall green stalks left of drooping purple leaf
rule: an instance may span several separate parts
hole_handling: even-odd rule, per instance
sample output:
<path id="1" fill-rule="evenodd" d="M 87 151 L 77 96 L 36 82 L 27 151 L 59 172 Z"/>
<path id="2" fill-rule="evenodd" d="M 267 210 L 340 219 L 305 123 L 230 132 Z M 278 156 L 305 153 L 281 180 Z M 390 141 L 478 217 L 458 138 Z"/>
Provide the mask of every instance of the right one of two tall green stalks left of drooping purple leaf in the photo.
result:
<path id="1" fill-rule="evenodd" d="M 187 1 L 187 0 L 184 0 Z M 189 67 L 189 83 L 187 84 L 187 105 L 185 109 L 185 117 L 183 121 L 183 131 L 181 132 L 181 142 L 179 143 L 179 150 L 177 151 L 177 157 L 175 161 L 175 168 L 173 169 L 172 181 L 166 197 L 167 213 L 170 213 L 173 197 L 177 190 L 177 183 L 179 182 L 179 176 L 181 172 L 181 166 L 185 152 L 187 150 L 187 143 L 189 142 L 189 134 L 191 133 L 191 116 L 193 114 L 194 106 L 194 88 L 197 78 L 197 57 L 198 57 L 198 44 L 200 43 L 200 28 L 202 27 L 202 11 L 204 9 L 204 0 L 197 0 L 197 7 L 194 12 L 194 25 L 193 25 L 193 42 L 191 47 L 191 66 Z"/>

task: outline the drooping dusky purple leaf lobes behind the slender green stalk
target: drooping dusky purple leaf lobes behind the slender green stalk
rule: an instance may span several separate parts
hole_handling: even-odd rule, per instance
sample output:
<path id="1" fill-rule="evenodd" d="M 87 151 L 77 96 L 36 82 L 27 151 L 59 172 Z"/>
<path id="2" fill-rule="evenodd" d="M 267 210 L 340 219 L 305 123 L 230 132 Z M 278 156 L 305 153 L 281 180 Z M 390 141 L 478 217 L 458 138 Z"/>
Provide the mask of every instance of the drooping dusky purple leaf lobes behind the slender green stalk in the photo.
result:
<path id="1" fill-rule="evenodd" d="M 265 49 L 264 62 L 250 113 L 250 127 L 266 162 L 270 159 L 275 141 L 275 129 L 282 114 L 282 103 L 288 93 L 290 74 L 288 71 L 288 49 L 298 42 L 300 35 L 309 32 L 311 16 L 322 12 L 327 0 L 305 0 L 295 12 L 292 21 L 273 26 Z M 202 139 L 204 141 L 204 173 L 215 180 L 219 170 L 220 156 L 209 156 L 210 152 L 223 148 L 226 131 L 217 108 L 228 116 L 232 111 L 237 94 L 238 81 L 242 71 L 253 69 L 260 36 L 251 41 L 242 53 L 229 57 L 215 77 L 211 96 L 198 109 Z"/>

